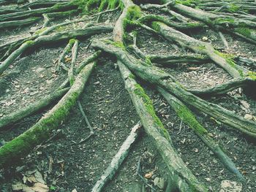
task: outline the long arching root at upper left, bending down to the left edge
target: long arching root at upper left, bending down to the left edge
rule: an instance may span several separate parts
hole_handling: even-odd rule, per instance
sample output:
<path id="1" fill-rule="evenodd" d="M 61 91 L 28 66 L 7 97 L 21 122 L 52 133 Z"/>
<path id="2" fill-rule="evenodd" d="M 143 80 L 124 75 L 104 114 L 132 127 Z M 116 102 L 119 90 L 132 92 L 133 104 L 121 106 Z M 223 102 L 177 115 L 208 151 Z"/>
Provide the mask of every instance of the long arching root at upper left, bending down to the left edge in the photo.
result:
<path id="1" fill-rule="evenodd" d="M 2 74 L 4 70 L 7 69 L 8 66 L 10 66 L 10 64 L 12 64 L 12 62 L 15 60 L 15 58 L 18 57 L 18 55 L 23 53 L 29 47 L 44 45 L 45 43 L 64 41 L 71 38 L 89 37 L 94 34 L 110 32 L 112 30 L 112 26 L 92 26 L 83 29 L 76 29 L 73 31 L 63 31 L 55 34 L 44 35 L 38 37 L 35 40 L 26 41 L 17 50 L 12 52 L 12 54 L 0 65 L 0 74 Z"/>

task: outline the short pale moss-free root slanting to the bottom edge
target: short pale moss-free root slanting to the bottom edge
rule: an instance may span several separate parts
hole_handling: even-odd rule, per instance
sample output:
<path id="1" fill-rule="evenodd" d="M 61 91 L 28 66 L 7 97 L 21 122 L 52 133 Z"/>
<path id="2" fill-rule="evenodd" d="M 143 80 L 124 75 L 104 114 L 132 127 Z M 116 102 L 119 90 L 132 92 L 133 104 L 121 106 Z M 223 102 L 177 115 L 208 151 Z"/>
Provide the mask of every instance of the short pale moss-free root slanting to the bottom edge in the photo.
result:
<path id="1" fill-rule="evenodd" d="M 118 150 L 118 153 L 114 156 L 112 159 L 110 165 L 105 170 L 105 172 L 102 174 L 102 176 L 99 178 L 97 183 L 95 183 L 94 187 L 91 189 L 91 192 L 100 192 L 105 187 L 105 185 L 110 181 L 113 176 L 116 174 L 116 172 L 119 169 L 119 166 L 124 161 L 124 159 L 127 157 L 129 150 L 132 146 L 132 144 L 136 141 L 138 137 L 138 133 L 140 131 L 140 123 L 138 123 L 136 126 L 132 128 L 132 131 L 130 132 L 127 139 L 124 141 L 124 143 L 121 145 L 120 149 Z"/>

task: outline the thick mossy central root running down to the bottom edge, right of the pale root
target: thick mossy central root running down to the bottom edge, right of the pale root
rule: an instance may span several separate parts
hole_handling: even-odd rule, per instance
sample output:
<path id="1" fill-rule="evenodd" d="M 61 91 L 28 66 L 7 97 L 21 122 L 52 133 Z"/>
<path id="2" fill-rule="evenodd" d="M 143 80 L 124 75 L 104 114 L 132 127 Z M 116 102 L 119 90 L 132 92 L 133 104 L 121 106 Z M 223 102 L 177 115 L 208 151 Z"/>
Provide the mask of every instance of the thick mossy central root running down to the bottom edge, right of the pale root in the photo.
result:
<path id="1" fill-rule="evenodd" d="M 170 140 L 170 135 L 155 114 L 152 102 L 143 91 L 143 88 L 136 83 L 132 73 L 129 72 L 129 69 L 121 61 L 118 61 L 118 67 L 124 79 L 125 88 L 129 92 L 135 110 L 140 116 L 143 128 L 152 138 L 154 145 L 167 165 L 173 186 L 178 191 L 183 192 L 208 191 L 204 185 L 198 182 L 196 177 L 184 164 L 184 161 L 176 153 Z"/>

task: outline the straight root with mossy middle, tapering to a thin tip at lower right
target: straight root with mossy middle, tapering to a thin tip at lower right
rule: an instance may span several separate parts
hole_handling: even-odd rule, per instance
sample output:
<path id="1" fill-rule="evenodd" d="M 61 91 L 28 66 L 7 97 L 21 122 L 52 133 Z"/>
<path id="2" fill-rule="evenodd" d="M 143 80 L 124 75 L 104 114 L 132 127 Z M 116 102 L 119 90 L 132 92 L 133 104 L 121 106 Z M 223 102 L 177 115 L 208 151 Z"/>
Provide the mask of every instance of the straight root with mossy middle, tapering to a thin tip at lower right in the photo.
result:
<path id="1" fill-rule="evenodd" d="M 244 180 L 243 175 L 236 169 L 236 165 L 233 163 L 233 161 L 223 152 L 222 148 L 219 147 L 217 142 L 214 141 L 211 137 L 208 136 L 208 131 L 206 128 L 204 128 L 195 118 L 195 116 L 192 114 L 192 112 L 184 105 L 180 100 L 176 99 L 175 96 L 168 93 L 164 89 L 158 87 L 157 90 L 162 94 L 162 96 L 165 97 L 168 104 L 170 104 L 170 107 L 175 110 L 178 117 L 181 118 L 181 120 L 186 123 L 190 128 L 192 128 L 193 131 L 195 131 L 195 134 L 210 148 L 210 150 L 217 155 L 220 161 L 222 161 L 222 164 L 225 165 L 225 167 L 230 170 L 230 172 L 233 172 L 233 174 L 236 174 L 236 177 L 240 180 Z"/>

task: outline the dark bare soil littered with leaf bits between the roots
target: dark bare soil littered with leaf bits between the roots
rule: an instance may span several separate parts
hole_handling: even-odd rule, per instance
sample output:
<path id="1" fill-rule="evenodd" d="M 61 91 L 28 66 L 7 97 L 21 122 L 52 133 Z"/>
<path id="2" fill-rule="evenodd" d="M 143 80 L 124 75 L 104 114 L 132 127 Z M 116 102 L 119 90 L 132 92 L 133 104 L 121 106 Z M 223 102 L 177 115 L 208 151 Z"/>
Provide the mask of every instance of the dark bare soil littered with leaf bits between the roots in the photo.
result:
<path id="1" fill-rule="evenodd" d="M 105 22 L 107 18 L 110 18 L 109 22 L 112 23 L 118 18 L 118 14 L 106 15 L 100 21 Z M 1 43 L 25 37 L 29 28 L 33 26 L 1 31 L 0 36 L 3 37 Z M 145 54 L 190 54 L 189 51 L 173 46 L 170 42 L 147 31 L 141 30 L 138 31 L 138 34 L 138 47 Z M 91 48 L 86 49 L 91 39 L 110 38 L 111 35 L 102 34 L 90 39 L 81 39 L 78 63 L 94 53 Z M 218 34 L 209 29 L 191 35 L 196 39 L 207 37 L 214 46 L 223 47 Z M 256 46 L 228 34 L 225 34 L 225 37 L 230 45 L 230 49 L 226 50 L 228 53 L 256 58 Z M 15 63 L 0 79 L 0 118 L 41 99 L 61 85 L 67 74 L 56 72 L 55 61 L 66 44 L 67 42 L 62 42 L 59 45 L 48 45 L 39 47 L 37 50 L 29 50 L 15 60 Z M 189 70 L 189 67 L 196 69 Z M 230 80 L 229 75 L 213 63 L 199 66 L 197 64 L 177 64 L 172 68 L 163 68 L 163 70 L 170 72 L 181 84 L 192 88 L 206 88 Z M 178 154 L 181 155 L 198 180 L 208 186 L 210 191 L 219 191 L 223 180 L 237 181 L 236 177 L 225 169 L 219 159 L 208 150 L 208 147 L 200 141 L 195 133 L 181 122 L 154 87 L 145 82 L 140 83 L 154 102 L 157 116 L 169 131 Z M 77 144 L 89 135 L 89 128 L 78 107 L 75 107 L 59 130 L 53 132 L 52 139 L 37 146 L 26 158 L 16 162 L 15 166 L 0 170 L 1 192 L 12 191 L 12 185 L 22 183 L 24 177 L 28 178 L 35 172 L 42 174 L 42 180 L 48 185 L 50 191 L 90 191 L 129 135 L 131 128 L 138 122 L 139 117 L 124 88 L 116 61 L 109 55 L 105 55 L 99 60 L 82 96 L 80 96 L 80 101 L 96 135 L 86 142 Z M 211 98 L 210 101 L 228 110 L 233 110 L 241 116 L 256 115 L 256 101 L 242 93 L 241 89 L 222 97 Z M 26 131 L 53 106 L 54 104 L 6 128 L 5 131 L 1 131 L 0 146 Z M 212 120 L 208 115 L 193 111 L 197 115 L 197 120 L 223 147 L 225 153 L 246 178 L 246 183 L 242 184 L 242 191 L 256 191 L 255 142 L 245 138 L 244 135 L 232 128 Z M 141 174 L 144 176 L 152 173 L 151 178 L 146 179 L 148 184 L 154 186 L 157 191 L 163 191 L 154 185 L 154 180 L 159 177 L 164 179 L 165 185 L 167 184 L 166 167 L 153 142 L 144 131 L 140 133 L 137 142 L 129 151 L 127 159 L 104 191 L 151 191 L 136 174 L 139 159 L 141 160 Z"/>

